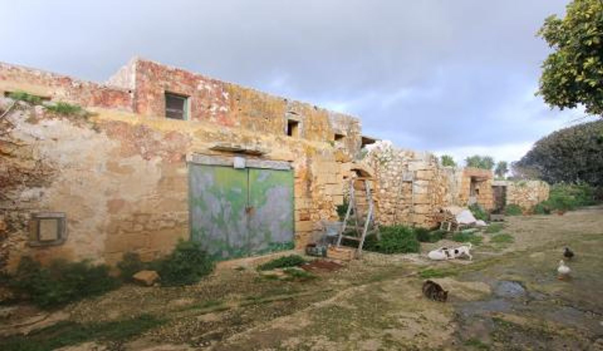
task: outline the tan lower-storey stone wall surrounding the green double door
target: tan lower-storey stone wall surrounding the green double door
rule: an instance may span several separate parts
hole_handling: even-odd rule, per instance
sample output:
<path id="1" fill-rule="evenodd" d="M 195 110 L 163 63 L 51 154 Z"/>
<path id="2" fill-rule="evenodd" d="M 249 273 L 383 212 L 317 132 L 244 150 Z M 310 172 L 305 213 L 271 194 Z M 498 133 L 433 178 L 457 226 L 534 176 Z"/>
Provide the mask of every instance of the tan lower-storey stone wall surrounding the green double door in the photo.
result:
<path id="1" fill-rule="evenodd" d="M 8 101 L 4 101 L 6 108 Z M 260 146 L 269 160 L 294 169 L 295 244 L 303 247 L 321 219 L 334 219 L 343 200 L 343 175 L 350 158 L 326 142 L 275 137 L 213 123 L 149 119 L 94 110 L 89 121 L 51 114 L 22 104 L 9 114 L 11 151 L 2 144 L 1 169 L 36 174 L 30 182 L 3 189 L 1 217 L 6 228 L 0 253 L 9 269 L 19 258 L 92 258 L 114 264 L 123 253 L 151 259 L 188 238 L 186 155 L 211 151 L 218 142 Z M 10 162 L 8 162 L 10 160 Z M 30 214 L 65 212 L 68 240 L 58 246 L 28 246 Z"/>

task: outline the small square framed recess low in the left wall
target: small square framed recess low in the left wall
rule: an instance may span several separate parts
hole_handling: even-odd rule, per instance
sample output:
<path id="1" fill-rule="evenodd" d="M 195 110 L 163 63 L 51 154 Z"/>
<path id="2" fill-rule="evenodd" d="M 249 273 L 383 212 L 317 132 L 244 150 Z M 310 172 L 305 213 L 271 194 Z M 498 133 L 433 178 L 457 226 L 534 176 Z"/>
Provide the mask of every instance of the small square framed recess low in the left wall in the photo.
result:
<path id="1" fill-rule="evenodd" d="M 38 212 L 31 214 L 30 246 L 52 246 L 67 239 L 66 216 L 63 212 Z"/>

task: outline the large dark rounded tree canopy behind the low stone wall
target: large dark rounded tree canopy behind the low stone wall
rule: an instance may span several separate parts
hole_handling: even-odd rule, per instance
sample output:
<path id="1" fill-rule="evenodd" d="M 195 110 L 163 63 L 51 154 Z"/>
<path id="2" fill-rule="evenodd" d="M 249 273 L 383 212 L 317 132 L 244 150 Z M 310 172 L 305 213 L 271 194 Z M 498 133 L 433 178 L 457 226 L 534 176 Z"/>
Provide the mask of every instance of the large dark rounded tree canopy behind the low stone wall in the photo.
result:
<path id="1" fill-rule="evenodd" d="M 586 182 L 603 186 L 603 120 L 552 132 L 538 140 L 513 173 L 550 183 Z"/>

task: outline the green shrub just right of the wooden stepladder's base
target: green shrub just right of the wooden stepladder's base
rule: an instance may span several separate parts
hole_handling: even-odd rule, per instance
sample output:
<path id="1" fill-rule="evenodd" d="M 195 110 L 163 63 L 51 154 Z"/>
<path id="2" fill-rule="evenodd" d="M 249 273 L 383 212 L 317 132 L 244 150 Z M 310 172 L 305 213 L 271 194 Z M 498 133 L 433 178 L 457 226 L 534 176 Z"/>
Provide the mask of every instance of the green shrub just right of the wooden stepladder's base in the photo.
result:
<path id="1" fill-rule="evenodd" d="M 420 243 L 412 228 L 394 225 L 379 228 L 381 240 L 371 234 L 365 240 L 364 249 L 380 253 L 418 252 Z"/>

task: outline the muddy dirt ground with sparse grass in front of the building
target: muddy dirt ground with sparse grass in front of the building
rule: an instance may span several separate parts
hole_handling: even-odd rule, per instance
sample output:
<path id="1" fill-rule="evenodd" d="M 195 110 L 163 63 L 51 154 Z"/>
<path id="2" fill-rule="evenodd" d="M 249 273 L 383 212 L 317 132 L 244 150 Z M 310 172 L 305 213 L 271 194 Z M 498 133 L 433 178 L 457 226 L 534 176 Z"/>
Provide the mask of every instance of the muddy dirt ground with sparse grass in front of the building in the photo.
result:
<path id="1" fill-rule="evenodd" d="M 513 242 L 491 240 L 500 234 Z M 508 217 L 502 231 L 481 235 L 473 261 L 428 261 L 434 247 L 458 244 L 446 240 L 418 255 L 365 253 L 315 279 L 259 275 L 267 257 L 230 261 L 192 287 L 126 286 L 50 317 L 164 321 L 118 343 L 63 350 L 603 350 L 602 207 Z M 564 246 L 576 256 L 571 279 L 559 280 Z M 421 296 L 426 278 L 450 291 L 448 302 Z"/>

